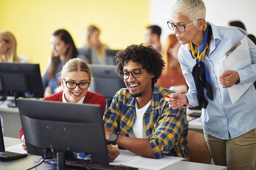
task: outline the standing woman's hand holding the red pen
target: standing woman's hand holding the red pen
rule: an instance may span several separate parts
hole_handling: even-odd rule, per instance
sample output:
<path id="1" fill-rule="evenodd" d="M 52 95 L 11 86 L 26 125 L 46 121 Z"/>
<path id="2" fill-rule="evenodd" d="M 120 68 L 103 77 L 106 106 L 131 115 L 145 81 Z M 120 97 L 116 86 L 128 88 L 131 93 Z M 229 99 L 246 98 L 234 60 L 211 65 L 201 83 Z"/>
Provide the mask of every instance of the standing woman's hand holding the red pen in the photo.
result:
<path id="1" fill-rule="evenodd" d="M 181 106 L 183 106 L 182 103 L 175 101 L 173 98 L 178 99 L 182 102 L 188 103 L 188 99 L 187 99 L 186 95 L 176 92 L 176 93 L 172 94 L 170 96 L 170 98 L 165 98 L 165 101 L 168 102 L 169 107 L 172 108 L 173 110 L 178 109 Z"/>

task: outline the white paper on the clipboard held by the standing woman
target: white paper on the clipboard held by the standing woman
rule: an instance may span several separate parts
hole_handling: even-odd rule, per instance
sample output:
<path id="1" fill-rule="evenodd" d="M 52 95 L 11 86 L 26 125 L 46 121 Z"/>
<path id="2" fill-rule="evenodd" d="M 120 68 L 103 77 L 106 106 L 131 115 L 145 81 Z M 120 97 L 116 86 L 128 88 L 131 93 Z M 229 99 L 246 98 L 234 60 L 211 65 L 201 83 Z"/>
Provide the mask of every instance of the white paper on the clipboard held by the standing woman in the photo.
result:
<path id="1" fill-rule="evenodd" d="M 232 46 L 225 55 L 220 59 L 220 67 L 222 72 L 228 70 L 241 70 L 248 67 L 252 63 L 247 37 L 244 36 L 239 42 Z M 234 84 L 227 88 L 232 104 L 234 104 L 252 85 Z"/>

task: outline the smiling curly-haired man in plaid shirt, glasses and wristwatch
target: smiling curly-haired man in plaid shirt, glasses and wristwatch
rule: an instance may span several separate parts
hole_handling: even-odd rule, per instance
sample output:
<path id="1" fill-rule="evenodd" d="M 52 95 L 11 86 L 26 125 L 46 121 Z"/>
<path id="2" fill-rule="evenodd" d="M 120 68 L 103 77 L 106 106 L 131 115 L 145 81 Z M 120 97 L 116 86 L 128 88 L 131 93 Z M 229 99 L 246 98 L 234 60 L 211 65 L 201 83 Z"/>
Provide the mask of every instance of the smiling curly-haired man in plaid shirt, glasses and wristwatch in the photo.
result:
<path id="1" fill-rule="evenodd" d="M 156 84 L 165 64 L 161 54 L 140 44 L 119 51 L 115 58 L 127 88 L 116 93 L 105 113 L 106 140 L 141 156 L 169 155 L 188 161 L 186 109 L 171 109 L 164 95 L 174 92 Z M 111 162 L 119 155 L 112 145 L 108 152 Z"/>

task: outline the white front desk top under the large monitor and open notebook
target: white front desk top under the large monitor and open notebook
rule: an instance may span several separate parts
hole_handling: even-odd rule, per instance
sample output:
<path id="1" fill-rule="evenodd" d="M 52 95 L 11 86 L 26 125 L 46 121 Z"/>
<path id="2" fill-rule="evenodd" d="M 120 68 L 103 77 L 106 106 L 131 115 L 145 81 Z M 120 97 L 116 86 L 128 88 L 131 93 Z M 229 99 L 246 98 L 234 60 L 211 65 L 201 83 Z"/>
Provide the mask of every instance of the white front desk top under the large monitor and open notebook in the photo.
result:
<path id="1" fill-rule="evenodd" d="M 16 145 L 21 143 L 19 139 L 11 138 L 11 137 L 4 137 L 5 147 Z M 30 155 L 25 158 L 1 162 L 0 169 L 4 170 L 13 170 L 13 169 L 28 169 L 34 166 L 34 161 L 38 161 L 41 156 Z M 54 166 L 52 165 L 45 165 L 44 163 L 37 167 L 38 170 L 46 170 L 50 169 Z M 185 162 L 179 161 L 169 167 L 164 168 L 163 170 L 174 170 L 174 169 L 188 169 L 188 170 L 226 170 L 227 167 L 224 166 L 217 166 L 217 165 L 208 165 L 202 163 L 194 163 L 194 162 Z M 142 169 L 140 169 L 142 170 Z"/>

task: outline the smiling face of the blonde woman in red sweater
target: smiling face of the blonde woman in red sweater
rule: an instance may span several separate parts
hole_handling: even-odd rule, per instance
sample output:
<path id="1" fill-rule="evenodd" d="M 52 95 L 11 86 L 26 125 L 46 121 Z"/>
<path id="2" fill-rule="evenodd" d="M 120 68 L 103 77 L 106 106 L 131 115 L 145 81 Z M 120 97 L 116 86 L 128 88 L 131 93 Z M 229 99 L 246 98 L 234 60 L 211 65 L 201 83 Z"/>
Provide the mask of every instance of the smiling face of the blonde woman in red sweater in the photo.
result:
<path id="1" fill-rule="evenodd" d="M 75 83 L 90 82 L 89 75 L 84 71 L 68 72 L 63 78 L 65 79 L 66 82 L 67 81 L 72 81 Z M 82 90 L 78 87 L 78 85 L 74 89 L 67 88 L 63 78 L 61 78 L 61 85 L 62 87 L 64 87 L 65 99 L 68 103 L 77 103 L 87 94 L 88 88 L 85 90 Z M 90 86 L 91 84 L 89 85 L 89 87 Z"/>

